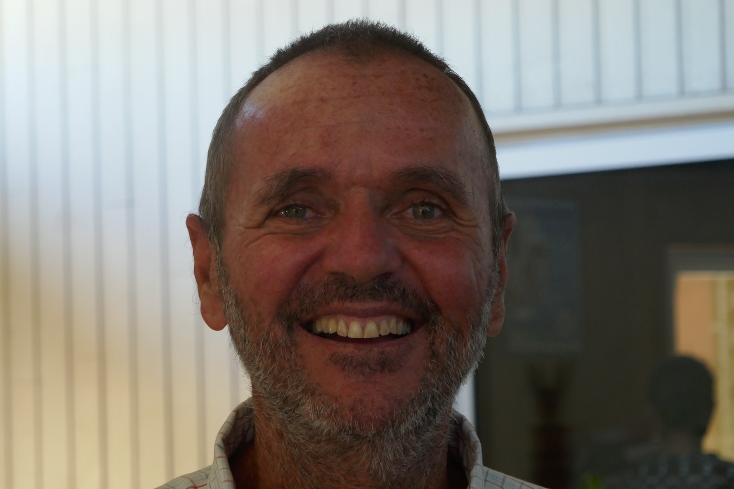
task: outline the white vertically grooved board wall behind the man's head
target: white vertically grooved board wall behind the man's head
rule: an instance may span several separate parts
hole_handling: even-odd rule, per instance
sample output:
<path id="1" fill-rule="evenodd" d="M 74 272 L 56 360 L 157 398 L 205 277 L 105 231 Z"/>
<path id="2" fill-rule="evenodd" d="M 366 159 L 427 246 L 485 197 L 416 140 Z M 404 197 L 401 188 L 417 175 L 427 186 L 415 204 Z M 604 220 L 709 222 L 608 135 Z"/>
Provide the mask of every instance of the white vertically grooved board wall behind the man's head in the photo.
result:
<path id="1" fill-rule="evenodd" d="M 197 312 L 209 135 L 275 48 L 364 15 L 446 56 L 490 120 L 731 103 L 734 0 L 0 0 L 1 485 L 211 463 L 249 388 Z"/>

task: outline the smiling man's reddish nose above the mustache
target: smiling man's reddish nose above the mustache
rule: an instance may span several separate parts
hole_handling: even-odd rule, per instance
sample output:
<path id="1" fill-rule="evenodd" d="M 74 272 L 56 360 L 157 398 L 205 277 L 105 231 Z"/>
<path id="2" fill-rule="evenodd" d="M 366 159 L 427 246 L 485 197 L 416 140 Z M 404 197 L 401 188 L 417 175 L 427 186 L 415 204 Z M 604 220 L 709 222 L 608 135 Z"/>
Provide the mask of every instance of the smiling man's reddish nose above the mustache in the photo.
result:
<path id="1" fill-rule="evenodd" d="M 390 224 L 368 205 L 342 214 L 321 258 L 325 271 L 344 274 L 357 284 L 396 273 L 401 258 Z"/>

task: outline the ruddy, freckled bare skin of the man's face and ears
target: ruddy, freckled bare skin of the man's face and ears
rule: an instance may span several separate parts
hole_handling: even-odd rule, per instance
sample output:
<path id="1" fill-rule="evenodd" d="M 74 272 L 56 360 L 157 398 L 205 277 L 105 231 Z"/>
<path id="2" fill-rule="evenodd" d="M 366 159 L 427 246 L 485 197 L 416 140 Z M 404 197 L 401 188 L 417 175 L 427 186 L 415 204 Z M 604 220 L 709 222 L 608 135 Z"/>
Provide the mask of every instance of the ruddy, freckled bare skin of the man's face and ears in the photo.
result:
<path id="1" fill-rule="evenodd" d="M 298 284 L 335 274 L 358 284 L 378 276 L 399 279 L 429 295 L 459 326 L 481 306 L 495 265 L 483 169 L 487 149 L 468 100 L 439 70 L 402 54 L 361 62 L 302 56 L 252 92 L 235 140 L 222 253 L 245 308 L 272 319 Z M 432 188 L 403 188 L 389 177 L 417 165 L 459 174 L 468 204 Z M 334 179 L 258 207 L 264 178 L 294 166 L 325 169 Z M 410 210 L 420 199 L 443 202 L 446 210 L 434 222 L 416 222 Z M 277 214 L 279 206 L 293 202 L 308 205 L 307 219 Z M 189 216 L 187 224 L 203 317 L 211 328 L 224 328 L 213 251 L 197 218 Z M 510 216 L 504 243 L 513 224 Z M 498 267 L 502 288 L 504 246 Z M 498 295 L 488 334 L 496 334 L 503 319 Z M 385 352 L 400 361 L 398 371 L 357 379 L 329 361 L 337 345 L 302 328 L 296 328 L 296 340 L 305 372 L 326 394 L 344 406 L 368 399 L 369 409 L 388 417 L 397 400 L 418 387 L 428 361 L 426 335 L 416 331 L 400 347 L 385 343 Z M 355 356 L 367 354 L 359 345 L 349 348 Z"/>

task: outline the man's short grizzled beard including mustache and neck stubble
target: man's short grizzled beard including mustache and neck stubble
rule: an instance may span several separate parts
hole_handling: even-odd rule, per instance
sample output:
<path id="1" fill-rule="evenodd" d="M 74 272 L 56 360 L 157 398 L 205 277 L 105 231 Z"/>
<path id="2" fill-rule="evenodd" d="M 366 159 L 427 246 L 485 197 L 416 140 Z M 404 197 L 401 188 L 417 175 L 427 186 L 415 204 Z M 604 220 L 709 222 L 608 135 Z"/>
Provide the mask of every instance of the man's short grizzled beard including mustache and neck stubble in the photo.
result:
<path id="1" fill-rule="evenodd" d="M 221 254 L 217 254 L 219 295 L 232 344 L 250 375 L 253 394 L 267 406 L 267 413 L 255 414 L 267 416 L 269 426 L 282 441 L 281 452 L 275 454 L 280 457 L 278 469 L 292 477 L 297 474 L 296 486 L 303 488 L 346 487 L 349 480 L 364 480 L 366 475 L 371 480 L 369 486 L 376 488 L 427 485 L 425 479 L 432 474 L 425 469 L 426 463 L 435 463 L 431 457 L 437 449 L 442 453 L 440 449 L 451 436 L 454 397 L 482 358 L 496 273 L 484 304 L 469 316 L 468 328 L 457 328 L 432 301 L 399 282 L 379 280 L 358 287 L 346 279 L 333 279 L 294 290 L 277 319 L 255 333 L 248 326 L 262 324 L 264 317 L 242 306 L 219 257 Z M 418 389 L 399 400 L 391 416 L 370 415 L 368 400 L 363 399 L 340 406 L 308 379 L 299 362 L 294 341 L 299 318 L 322 306 L 347 301 L 393 302 L 418 312 L 425 321 L 429 361 Z M 330 361 L 351 375 L 392 372 L 401 367 L 379 353 L 360 359 L 333 355 Z M 355 419 L 351 413 L 362 416 Z"/>

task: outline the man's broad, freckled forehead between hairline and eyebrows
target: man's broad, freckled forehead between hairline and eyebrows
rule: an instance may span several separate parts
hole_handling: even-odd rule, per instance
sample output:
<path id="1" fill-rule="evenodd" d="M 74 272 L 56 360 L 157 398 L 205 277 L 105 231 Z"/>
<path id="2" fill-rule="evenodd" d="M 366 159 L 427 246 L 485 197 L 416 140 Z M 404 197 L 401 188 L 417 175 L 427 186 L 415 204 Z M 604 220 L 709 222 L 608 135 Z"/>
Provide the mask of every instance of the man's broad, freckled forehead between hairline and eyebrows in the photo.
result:
<path id="1" fill-rule="evenodd" d="M 400 52 L 295 59 L 252 91 L 234 141 L 236 173 L 255 186 L 288 166 L 325 166 L 352 180 L 410 164 L 467 173 L 459 166 L 482 167 L 484 147 L 459 87 Z"/>

